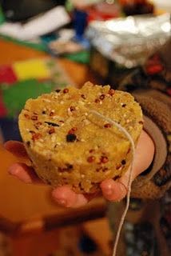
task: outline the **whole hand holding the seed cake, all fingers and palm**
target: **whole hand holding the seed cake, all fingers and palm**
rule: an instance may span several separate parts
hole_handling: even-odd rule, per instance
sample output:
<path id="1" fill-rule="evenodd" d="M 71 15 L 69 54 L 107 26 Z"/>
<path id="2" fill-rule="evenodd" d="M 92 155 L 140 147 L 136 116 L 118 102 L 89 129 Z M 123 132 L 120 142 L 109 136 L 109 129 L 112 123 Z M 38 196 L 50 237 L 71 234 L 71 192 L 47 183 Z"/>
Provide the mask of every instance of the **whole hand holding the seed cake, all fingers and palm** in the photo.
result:
<path id="1" fill-rule="evenodd" d="M 5 143 L 6 150 L 14 154 L 16 157 L 28 160 L 25 147 L 22 142 L 9 141 Z M 135 159 L 133 161 L 133 175 L 132 178 L 136 178 L 138 174 L 141 174 L 146 170 L 153 161 L 154 145 L 152 139 L 145 131 L 142 131 L 139 141 L 137 143 Z M 10 166 L 9 174 L 18 178 L 22 182 L 26 183 L 43 183 L 35 174 L 33 167 L 27 166 L 25 163 L 18 162 Z M 127 193 L 129 179 L 129 170 L 117 181 L 113 179 L 106 179 L 101 182 L 101 192 L 104 198 L 109 201 L 120 201 L 125 198 Z M 93 195 L 95 196 L 95 195 Z M 76 194 L 71 190 L 70 186 L 58 186 L 52 191 L 52 197 L 58 204 L 66 207 L 79 207 L 84 206 L 90 199 L 93 198 L 87 194 Z"/>

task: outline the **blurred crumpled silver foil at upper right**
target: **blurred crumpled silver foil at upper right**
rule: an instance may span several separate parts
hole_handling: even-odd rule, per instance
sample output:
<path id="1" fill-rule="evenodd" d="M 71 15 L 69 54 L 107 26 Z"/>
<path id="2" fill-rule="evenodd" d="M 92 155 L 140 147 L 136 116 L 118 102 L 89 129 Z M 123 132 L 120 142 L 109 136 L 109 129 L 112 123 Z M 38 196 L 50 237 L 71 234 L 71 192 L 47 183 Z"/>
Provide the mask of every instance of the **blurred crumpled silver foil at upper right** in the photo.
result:
<path id="1" fill-rule="evenodd" d="M 89 23 L 85 35 L 106 58 L 125 68 L 142 65 L 170 37 L 170 14 L 138 15 Z"/>

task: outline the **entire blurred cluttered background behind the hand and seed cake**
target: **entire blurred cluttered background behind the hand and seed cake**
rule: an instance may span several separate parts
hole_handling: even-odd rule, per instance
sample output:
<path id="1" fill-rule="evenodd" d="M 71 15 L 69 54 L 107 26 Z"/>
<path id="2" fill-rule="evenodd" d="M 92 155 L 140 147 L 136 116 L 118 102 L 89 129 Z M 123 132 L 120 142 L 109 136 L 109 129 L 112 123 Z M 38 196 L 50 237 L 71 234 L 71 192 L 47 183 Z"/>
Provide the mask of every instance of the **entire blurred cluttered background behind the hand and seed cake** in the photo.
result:
<path id="1" fill-rule="evenodd" d="M 0 0 L 1 256 L 111 255 L 105 200 L 57 206 L 50 188 L 9 177 L 19 159 L 2 145 L 21 140 L 28 98 L 87 81 L 117 89 L 168 40 L 170 13 L 170 0 Z"/>

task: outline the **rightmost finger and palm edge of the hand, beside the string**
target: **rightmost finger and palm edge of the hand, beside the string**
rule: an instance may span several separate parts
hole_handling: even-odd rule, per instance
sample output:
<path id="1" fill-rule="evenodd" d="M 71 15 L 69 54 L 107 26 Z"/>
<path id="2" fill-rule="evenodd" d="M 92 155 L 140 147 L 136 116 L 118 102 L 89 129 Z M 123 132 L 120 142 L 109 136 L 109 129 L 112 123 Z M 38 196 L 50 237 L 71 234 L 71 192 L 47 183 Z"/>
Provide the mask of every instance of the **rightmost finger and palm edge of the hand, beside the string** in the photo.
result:
<path id="1" fill-rule="evenodd" d="M 137 143 L 133 161 L 132 180 L 146 170 L 153 161 L 154 145 L 152 139 L 143 131 Z M 129 168 L 130 170 L 130 168 Z M 107 179 L 101 182 L 103 196 L 109 201 L 120 201 L 128 191 L 129 170 L 117 181 Z"/>

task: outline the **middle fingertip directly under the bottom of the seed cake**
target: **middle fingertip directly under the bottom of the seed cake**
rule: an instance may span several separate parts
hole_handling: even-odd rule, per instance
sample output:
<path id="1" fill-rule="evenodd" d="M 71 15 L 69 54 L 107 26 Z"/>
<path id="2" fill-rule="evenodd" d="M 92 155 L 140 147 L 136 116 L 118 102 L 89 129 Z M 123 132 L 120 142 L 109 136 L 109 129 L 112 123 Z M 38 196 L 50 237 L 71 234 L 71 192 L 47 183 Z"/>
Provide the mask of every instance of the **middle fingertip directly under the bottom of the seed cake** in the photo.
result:
<path id="1" fill-rule="evenodd" d="M 65 207 L 80 207 L 88 202 L 83 194 L 76 194 L 70 186 L 58 186 L 53 190 L 52 196 L 55 202 Z"/>

